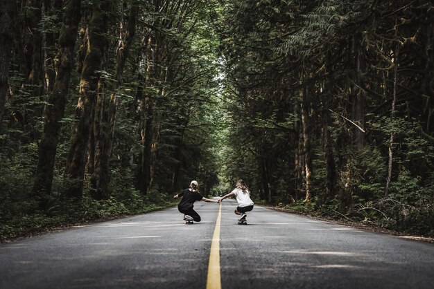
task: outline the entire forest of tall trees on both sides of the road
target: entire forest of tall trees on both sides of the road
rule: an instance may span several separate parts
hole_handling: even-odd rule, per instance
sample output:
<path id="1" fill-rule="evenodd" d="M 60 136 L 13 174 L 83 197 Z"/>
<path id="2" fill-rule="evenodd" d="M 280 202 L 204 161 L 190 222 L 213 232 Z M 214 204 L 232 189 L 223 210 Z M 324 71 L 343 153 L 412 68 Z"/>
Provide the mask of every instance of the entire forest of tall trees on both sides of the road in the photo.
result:
<path id="1" fill-rule="evenodd" d="M 434 236 L 426 0 L 1 0 L 0 240 L 252 198 Z"/>

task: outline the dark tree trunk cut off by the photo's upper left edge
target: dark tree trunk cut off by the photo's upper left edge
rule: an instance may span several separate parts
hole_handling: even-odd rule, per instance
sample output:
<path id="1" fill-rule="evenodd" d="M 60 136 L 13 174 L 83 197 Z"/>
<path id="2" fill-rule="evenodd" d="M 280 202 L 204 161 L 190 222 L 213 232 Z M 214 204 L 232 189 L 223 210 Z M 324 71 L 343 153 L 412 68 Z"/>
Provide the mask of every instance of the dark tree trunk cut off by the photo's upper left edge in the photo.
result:
<path id="1" fill-rule="evenodd" d="M 17 8 L 15 0 L 0 0 L 0 133 L 8 93 L 8 75 Z"/>

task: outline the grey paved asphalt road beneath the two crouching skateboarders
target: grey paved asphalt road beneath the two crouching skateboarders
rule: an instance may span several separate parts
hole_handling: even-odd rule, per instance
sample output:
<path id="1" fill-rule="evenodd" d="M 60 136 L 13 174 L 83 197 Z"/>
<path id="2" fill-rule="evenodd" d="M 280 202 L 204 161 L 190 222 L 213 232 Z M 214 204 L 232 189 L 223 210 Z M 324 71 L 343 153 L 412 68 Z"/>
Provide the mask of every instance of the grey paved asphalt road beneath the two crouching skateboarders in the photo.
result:
<path id="1" fill-rule="evenodd" d="M 222 288 L 434 288 L 434 245 L 255 207 L 222 205 Z M 76 227 L 0 245 L 0 288 L 206 288 L 218 205 Z"/>

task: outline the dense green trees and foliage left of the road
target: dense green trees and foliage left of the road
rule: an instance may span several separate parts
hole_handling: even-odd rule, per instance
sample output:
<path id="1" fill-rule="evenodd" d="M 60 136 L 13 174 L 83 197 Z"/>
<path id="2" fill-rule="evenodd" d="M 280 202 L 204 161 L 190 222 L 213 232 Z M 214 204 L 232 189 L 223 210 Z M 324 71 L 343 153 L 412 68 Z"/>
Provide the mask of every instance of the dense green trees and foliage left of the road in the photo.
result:
<path id="1" fill-rule="evenodd" d="M 174 205 L 193 178 L 209 194 L 219 118 L 207 1 L 17 7 L 0 239 Z"/>

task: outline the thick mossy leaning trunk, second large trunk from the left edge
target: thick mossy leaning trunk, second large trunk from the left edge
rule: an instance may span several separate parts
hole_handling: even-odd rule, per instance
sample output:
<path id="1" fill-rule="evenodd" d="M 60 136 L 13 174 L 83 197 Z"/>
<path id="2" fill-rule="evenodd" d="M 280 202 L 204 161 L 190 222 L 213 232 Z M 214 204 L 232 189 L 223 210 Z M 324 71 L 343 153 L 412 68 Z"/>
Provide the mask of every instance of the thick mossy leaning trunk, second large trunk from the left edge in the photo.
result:
<path id="1" fill-rule="evenodd" d="M 44 113 L 44 133 L 38 147 L 38 162 L 33 185 L 33 193 L 42 198 L 42 207 L 46 205 L 53 183 L 55 153 L 61 123 L 67 104 L 67 95 L 71 71 L 74 66 L 74 47 L 76 45 L 78 22 L 80 21 L 80 0 L 69 0 L 64 6 L 64 18 L 59 35 L 60 50 L 56 57 L 55 83 L 49 94 L 49 105 Z"/>

